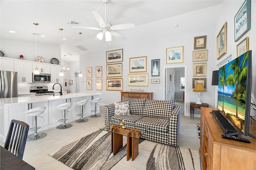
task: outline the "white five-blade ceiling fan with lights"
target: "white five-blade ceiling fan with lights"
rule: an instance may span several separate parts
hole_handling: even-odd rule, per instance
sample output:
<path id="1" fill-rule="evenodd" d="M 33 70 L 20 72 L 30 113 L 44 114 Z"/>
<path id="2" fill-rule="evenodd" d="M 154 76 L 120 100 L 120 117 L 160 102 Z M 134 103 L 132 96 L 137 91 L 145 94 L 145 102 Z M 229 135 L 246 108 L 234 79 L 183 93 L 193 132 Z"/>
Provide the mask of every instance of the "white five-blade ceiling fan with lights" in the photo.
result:
<path id="1" fill-rule="evenodd" d="M 103 36 L 105 35 L 106 42 L 111 41 L 112 36 L 115 36 L 117 38 L 121 38 L 123 40 L 126 40 L 127 39 L 126 37 L 122 36 L 121 34 L 118 34 L 117 32 L 114 32 L 114 30 L 124 30 L 124 29 L 128 29 L 128 28 L 134 28 L 135 25 L 134 24 L 119 24 L 119 25 L 112 26 L 112 24 L 107 21 L 107 16 L 106 16 L 107 15 L 106 14 L 107 3 L 109 2 L 109 0 L 102 0 L 102 2 L 105 3 L 105 20 L 103 20 L 103 18 L 100 16 L 99 12 L 92 11 L 92 14 L 94 15 L 94 18 L 99 23 L 99 28 L 83 27 L 83 26 L 72 26 L 72 27 L 73 28 L 90 29 L 90 30 L 102 30 L 102 32 L 97 34 L 96 37 L 99 40 L 102 40 Z"/>

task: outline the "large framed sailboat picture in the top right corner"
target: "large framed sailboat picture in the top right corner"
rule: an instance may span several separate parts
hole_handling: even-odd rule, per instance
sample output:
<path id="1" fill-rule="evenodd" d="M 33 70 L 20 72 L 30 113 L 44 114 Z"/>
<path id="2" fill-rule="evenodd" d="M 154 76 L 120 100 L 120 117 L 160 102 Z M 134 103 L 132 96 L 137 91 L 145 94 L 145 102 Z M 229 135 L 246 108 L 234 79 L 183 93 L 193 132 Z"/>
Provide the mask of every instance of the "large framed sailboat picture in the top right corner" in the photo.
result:
<path id="1" fill-rule="evenodd" d="M 245 0 L 238 10 L 235 18 L 235 42 L 237 42 L 246 32 L 251 29 L 251 4 L 250 0 Z"/>

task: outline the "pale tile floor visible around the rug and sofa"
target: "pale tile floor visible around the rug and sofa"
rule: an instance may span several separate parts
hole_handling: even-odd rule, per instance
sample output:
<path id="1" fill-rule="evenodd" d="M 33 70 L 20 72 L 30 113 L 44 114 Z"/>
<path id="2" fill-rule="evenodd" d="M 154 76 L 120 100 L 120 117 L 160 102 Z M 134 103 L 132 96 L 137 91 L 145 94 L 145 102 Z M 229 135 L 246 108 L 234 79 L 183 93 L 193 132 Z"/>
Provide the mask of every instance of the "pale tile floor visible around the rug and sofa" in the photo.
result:
<path id="1" fill-rule="evenodd" d="M 184 103 L 177 101 L 176 105 L 182 106 L 182 113 L 184 113 Z M 89 121 L 86 123 L 71 122 L 70 124 L 72 124 L 73 127 L 65 130 L 58 130 L 56 128 L 44 130 L 44 132 L 47 133 L 46 137 L 37 141 L 26 142 L 23 160 L 34 166 L 36 170 L 71 170 L 71 168 L 51 156 L 62 148 L 62 146 L 104 127 L 103 106 L 100 107 L 100 115 L 102 116 L 99 118 L 87 117 Z M 200 118 L 190 119 L 190 117 L 185 117 L 184 114 L 182 114 L 178 146 L 199 150 L 200 139 L 198 138 L 198 123 L 200 123 Z M 3 146 L 2 142 L 1 146 Z"/>

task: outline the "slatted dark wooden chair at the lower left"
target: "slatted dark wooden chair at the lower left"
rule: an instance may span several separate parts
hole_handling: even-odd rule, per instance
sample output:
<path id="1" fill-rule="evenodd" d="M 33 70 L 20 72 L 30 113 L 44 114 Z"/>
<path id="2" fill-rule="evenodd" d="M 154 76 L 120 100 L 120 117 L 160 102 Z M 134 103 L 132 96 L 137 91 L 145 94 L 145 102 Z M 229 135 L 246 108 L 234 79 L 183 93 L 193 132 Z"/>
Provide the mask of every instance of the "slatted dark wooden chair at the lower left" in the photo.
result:
<path id="1" fill-rule="evenodd" d="M 28 136 L 29 125 L 25 122 L 12 120 L 7 138 L 4 144 L 4 148 L 18 156 L 23 158 L 26 140 Z"/>

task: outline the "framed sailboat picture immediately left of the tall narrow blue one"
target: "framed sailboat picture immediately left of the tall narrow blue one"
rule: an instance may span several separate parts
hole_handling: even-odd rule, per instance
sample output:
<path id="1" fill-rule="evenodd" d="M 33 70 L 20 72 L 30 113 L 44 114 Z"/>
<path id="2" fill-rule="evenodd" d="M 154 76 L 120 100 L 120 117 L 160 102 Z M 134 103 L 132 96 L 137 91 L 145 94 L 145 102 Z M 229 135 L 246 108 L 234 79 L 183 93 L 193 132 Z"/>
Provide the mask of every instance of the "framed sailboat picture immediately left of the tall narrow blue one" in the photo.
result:
<path id="1" fill-rule="evenodd" d="M 146 72 L 147 71 L 147 57 L 130 58 L 129 62 L 130 73 L 132 72 Z"/>

